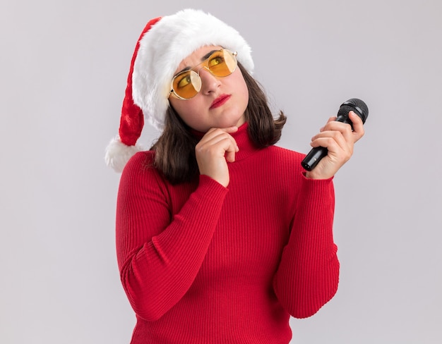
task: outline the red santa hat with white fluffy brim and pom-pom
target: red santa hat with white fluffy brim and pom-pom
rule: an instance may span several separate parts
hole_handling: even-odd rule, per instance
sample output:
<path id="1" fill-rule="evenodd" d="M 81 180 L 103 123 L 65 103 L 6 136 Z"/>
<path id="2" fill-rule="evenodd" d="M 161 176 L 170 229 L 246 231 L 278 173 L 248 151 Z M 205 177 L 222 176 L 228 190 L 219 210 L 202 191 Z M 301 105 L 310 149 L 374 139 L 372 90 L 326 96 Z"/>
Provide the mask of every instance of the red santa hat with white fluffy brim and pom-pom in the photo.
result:
<path id="1" fill-rule="evenodd" d="M 131 156 L 144 125 L 158 130 L 165 124 L 170 82 L 179 63 L 206 45 L 237 51 L 238 61 L 253 72 L 251 48 L 237 30 L 203 11 L 186 9 L 154 18 L 145 26 L 133 53 L 126 95 L 121 109 L 119 135 L 107 146 L 105 161 L 121 172 Z"/>

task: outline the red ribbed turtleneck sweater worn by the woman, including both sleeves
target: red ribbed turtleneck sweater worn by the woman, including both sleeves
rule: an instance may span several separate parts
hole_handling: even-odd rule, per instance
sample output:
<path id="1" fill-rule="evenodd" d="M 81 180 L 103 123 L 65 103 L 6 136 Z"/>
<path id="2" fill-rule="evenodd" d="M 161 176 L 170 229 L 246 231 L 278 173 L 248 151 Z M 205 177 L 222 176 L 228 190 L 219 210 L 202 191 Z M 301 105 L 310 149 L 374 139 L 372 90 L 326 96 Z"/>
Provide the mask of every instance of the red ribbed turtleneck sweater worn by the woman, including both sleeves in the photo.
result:
<path id="1" fill-rule="evenodd" d="M 117 258 L 136 312 L 131 343 L 289 343 L 338 288 L 333 182 L 305 178 L 302 154 L 257 149 L 242 125 L 222 187 L 171 185 L 133 156 L 121 175 Z"/>

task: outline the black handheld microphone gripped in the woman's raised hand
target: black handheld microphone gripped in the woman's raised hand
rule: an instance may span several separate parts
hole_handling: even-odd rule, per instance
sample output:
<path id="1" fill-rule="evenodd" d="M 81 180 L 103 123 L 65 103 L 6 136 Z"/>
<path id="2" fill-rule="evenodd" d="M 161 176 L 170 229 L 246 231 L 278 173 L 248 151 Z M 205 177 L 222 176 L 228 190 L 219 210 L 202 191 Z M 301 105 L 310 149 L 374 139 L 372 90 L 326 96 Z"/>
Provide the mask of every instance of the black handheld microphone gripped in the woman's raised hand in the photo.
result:
<path id="1" fill-rule="evenodd" d="M 356 113 L 357 116 L 362 119 L 362 123 L 365 123 L 366 118 L 369 116 L 369 108 L 364 102 L 362 102 L 361 99 L 352 98 L 348 99 L 347 102 L 343 102 L 339 108 L 338 118 L 336 118 L 336 121 L 350 124 L 352 126 L 352 130 L 353 123 L 348 117 L 348 113 L 350 111 L 354 111 L 354 113 Z M 325 147 L 314 147 L 311 149 L 309 154 L 306 155 L 304 160 L 301 161 L 302 167 L 304 167 L 306 171 L 313 170 L 318 162 L 327 155 L 327 152 L 328 149 Z"/>

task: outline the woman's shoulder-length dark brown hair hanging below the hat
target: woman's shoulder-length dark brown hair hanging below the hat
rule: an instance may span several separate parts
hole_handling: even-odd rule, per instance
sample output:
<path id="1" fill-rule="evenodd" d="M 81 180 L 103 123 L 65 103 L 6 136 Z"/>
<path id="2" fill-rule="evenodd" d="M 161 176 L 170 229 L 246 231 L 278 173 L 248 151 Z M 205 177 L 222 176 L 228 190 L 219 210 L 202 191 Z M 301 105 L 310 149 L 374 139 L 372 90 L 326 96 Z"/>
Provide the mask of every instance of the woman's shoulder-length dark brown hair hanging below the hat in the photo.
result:
<path id="1" fill-rule="evenodd" d="M 275 145 L 280 140 L 287 118 L 282 111 L 277 119 L 273 118 L 261 85 L 247 73 L 241 63 L 238 66 L 249 89 L 249 104 L 245 111 L 249 137 L 259 148 Z M 150 148 L 155 151 L 153 166 L 172 184 L 193 180 L 199 173 L 195 156 L 195 146 L 199 140 L 192 134 L 189 125 L 169 106 L 162 135 Z"/>

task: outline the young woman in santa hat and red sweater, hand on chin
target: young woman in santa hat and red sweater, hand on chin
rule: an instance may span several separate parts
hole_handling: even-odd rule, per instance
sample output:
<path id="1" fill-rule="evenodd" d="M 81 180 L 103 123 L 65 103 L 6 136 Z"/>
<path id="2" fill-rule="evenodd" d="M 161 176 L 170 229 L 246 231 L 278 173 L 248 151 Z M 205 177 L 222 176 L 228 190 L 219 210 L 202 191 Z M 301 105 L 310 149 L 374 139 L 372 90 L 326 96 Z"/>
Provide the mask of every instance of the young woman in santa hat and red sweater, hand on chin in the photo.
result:
<path id="1" fill-rule="evenodd" d="M 286 118 L 273 118 L 252 72 L 245 40 L 202 11 L 155 18 L 138 40 L 106 156 L 123 170 L 117 259 L 131 343 L 289 343 L 289 317 L 335 295 L 332 180 L 362 121 L 330 118 L 311 142 L 328 155 L 306 172 L 303 154 L 275 146 Z M 144 117 L 162 135 L 136 152 Z"/>

